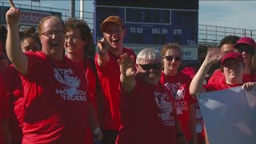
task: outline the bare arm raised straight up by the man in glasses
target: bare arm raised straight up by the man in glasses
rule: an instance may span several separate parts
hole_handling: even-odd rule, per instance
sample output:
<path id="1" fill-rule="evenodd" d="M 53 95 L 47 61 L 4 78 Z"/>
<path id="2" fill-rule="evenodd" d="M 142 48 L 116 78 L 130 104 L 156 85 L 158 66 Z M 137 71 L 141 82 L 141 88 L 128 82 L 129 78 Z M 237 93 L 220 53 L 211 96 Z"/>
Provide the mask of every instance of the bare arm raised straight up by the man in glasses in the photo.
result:
<path id="1" fill-rule="evenodd" d="M 22 53 L 21 41 L 19 38 L 18 23 L 21 18 L 21 11 L 14 6 L 13 0 L 9 0 L 10 10 L 6 12 L 6 23 L 8 28 L 6 38 L 6 52 L 10 62 L 22 74 L 26 74 L 28 60 L 26 54 Z"/>

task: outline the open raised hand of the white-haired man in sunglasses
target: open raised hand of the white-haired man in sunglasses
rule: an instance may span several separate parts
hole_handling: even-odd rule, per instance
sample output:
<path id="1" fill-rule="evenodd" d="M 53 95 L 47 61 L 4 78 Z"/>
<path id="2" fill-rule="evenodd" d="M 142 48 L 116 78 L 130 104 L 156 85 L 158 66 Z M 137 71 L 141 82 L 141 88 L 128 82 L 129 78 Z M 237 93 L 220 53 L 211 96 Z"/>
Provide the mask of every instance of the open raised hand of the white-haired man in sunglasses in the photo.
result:
<path id="1" fill-rule="evenodd" d="M 133 55 L 122 54 L 118 59 L 118 64 L 120 66 L 121 74 L 126 77 L 135 76 L 136 70 L 134 66 L 135 58 Z"/>

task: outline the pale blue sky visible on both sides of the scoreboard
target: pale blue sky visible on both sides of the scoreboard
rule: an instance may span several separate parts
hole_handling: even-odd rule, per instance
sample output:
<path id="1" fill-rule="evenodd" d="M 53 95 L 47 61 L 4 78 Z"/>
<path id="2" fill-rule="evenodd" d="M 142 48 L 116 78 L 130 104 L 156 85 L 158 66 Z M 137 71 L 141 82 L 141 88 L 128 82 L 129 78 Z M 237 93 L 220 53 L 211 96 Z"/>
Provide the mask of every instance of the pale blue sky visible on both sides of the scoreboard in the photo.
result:
<path id="1" fill-rule="evenodd" d="M 89 2 L 89 0 L 85 1 Z M 0 2 L 8 1 L 0 0 Z M 14 3 L 30 4 L 31 2 L 14 0 Z M 38 6 L 38 2 L 33 2 L 33 5 Z M 70 1 L 41 0 L 41 6 L 70 9 Z M 256 30 L 255 6 L 256 1 L 199 1 L 199 24 Z M 79 7 L 78 0 L 76 7 Z"/>

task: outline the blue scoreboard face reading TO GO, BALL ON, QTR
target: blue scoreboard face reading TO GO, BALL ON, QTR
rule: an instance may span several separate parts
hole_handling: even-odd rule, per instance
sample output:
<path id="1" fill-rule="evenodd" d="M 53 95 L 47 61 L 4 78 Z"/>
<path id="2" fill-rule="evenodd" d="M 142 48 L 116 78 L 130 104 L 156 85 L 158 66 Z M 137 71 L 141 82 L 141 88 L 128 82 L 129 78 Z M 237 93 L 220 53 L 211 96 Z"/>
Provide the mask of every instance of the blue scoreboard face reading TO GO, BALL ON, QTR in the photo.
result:
<path id="1" fill-rule="evenodd" d="M 110 15 L 118 15 L 125 22 L 125 44 L 198 45 L 198 10 L 96 5 L 97 40 L 102 38 L 101 23 Z"/>

